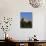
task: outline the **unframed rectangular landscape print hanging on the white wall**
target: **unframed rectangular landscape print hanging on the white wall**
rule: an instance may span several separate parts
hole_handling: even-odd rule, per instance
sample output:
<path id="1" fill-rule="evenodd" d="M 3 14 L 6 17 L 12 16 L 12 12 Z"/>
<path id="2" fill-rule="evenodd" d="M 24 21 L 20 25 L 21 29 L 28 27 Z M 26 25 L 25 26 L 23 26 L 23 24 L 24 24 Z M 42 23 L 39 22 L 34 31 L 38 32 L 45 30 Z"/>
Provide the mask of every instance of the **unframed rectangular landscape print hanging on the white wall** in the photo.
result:
<path id="1" fill-rule="evenodd" d="M 21 28 L 32 28 L 32 12 L 21 12 L 20 18 Z"/>

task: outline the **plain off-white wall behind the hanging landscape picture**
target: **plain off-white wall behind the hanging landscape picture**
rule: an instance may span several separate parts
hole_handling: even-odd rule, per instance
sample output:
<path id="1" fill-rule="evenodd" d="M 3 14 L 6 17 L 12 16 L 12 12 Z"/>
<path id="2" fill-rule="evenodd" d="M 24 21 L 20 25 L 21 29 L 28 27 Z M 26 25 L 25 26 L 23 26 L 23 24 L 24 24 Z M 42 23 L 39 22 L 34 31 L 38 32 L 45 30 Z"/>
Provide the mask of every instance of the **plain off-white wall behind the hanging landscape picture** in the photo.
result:
<path id="1" fill-rule="evenodd" d="M 20 12 L 32 12 L 33 13 L 33 28 L 21 29 L 20 28 Z M 39 40 L 44 40 L 44 25 L 46 8 L 32 8 L 28 0 L 0 0 L 0 19 L 4 16 L 12 17 L 12 26 L 8 31 L 9 37 L 16 40 L 28 40 L 34 34 L 37 35 Z M 4 39 L 2 31 L 0 31 L 0 39 Z"/>

